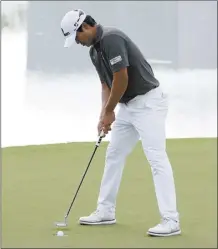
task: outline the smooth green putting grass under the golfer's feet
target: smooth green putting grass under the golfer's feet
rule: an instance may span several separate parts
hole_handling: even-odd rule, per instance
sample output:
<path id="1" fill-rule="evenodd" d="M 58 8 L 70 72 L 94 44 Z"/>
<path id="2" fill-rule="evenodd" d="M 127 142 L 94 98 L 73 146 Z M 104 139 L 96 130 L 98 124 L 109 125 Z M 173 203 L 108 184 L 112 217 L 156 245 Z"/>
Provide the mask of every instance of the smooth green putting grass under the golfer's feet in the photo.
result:
<path id="1" fill-rule="evenodd" d="M 94 211 L 107 143 L 99 147 L 75 206 L 66 237 L 56 237 L 87 166 L 94 143 L 2 149 L 2 247 L 16 248 L 216 248 L 217 140 L 168 140 L 182 235 L 146 235 L 159 222 L 150 166 L 139 143 L 128 157 L 113 226 L 79 226 Z"/>

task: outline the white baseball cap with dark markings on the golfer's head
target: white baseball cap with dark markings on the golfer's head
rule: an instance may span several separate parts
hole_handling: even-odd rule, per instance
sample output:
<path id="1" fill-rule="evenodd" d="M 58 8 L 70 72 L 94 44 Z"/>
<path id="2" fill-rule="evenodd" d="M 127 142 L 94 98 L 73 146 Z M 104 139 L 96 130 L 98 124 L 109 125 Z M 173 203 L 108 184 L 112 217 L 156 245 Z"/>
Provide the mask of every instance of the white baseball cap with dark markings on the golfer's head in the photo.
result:
<path id="1" fill-rule="evenodd" d="M 86 18 L 83 10 L 71 10 L 65 14 L 61 21 L 61 30 L 66 37 L 64 47 L 69 48 L 76 38 L 76 31 Z"/>

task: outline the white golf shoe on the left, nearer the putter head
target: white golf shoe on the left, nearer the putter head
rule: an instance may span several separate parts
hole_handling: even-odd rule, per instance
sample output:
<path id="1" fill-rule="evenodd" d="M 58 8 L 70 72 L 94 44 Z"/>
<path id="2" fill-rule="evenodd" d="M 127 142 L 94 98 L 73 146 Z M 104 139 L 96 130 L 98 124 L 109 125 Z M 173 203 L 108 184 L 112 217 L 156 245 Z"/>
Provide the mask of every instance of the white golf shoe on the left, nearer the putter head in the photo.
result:
<path id="1" fill-rule="evenodd" d="M 115 213 L 110 211 L 96 210 L 89 216 L 80 217 L 81 225 L 111 225 L 116 223 Z"/>

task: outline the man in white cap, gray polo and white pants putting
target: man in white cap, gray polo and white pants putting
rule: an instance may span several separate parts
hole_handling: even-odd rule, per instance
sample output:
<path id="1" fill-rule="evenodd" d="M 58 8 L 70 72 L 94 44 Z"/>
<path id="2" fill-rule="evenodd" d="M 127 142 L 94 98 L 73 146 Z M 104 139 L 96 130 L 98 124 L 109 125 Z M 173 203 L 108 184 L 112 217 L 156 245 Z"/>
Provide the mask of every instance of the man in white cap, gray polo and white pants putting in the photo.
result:
<path id="1" fill-rule="evenodd" d="M 165 150 L 167 97 L 159 87 L 151 66 L 139 48 L 122 31 L 103 27 L 82 10 L 63 17 L 61 30 L 65 47 L 74 42 L 90 48 L 90 57 L 102 85 L 102 110 L 98 132 L 111 130 L 97 210 L 81 217 L 80 224 L 115 224 L 116 198 L 124 163 L 141 137 L 152 169 L 160 224 L 150 228 L 152 236 L 181 233 L 176 207 L 174 177 Z M 115 107 L 119 112 L 115 117 Z"/>

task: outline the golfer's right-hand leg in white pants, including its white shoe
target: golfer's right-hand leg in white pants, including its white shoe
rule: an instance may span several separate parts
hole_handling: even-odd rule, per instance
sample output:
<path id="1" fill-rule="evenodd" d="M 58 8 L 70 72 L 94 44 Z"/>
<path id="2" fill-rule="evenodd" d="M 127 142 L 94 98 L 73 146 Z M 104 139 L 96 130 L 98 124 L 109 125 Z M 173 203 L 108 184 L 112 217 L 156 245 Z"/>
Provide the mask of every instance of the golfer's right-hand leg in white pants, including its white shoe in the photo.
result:
<path id="1" fill-rule="evenodd" d="M 149 229 L 156 236 L 181 233 L 176 207 L 173 171 L 166 153 L 165 121 L 168 110 L 167 97 L 156 88 L 138 99 L 138 107 L 129 107 L 132 122 L 142 140 L 144 153 L 151 166 L 155 193 L 162 223 Z M 141 103 L 140 103 L 141 102 Z"/>

